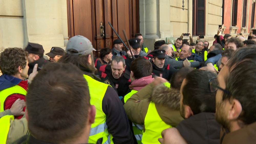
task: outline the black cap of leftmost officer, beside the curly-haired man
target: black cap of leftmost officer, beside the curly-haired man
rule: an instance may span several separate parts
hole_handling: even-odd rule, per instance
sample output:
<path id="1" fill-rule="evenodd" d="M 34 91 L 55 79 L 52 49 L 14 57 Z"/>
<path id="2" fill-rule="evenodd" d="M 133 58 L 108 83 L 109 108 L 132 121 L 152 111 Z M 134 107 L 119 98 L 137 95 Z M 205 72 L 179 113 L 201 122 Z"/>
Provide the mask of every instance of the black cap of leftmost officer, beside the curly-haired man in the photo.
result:
<path id="1" fill-rule="evenodd" d="M 44 51 L 45 51 L 42 45 L 39 45 L 38 43 L 32 43 L 32 42 L 28 42 L 28 45 L 25 48 L 25 50 L 28 53 L 37 54 L 39 58 L 41 58 L 44 55 Z"/>

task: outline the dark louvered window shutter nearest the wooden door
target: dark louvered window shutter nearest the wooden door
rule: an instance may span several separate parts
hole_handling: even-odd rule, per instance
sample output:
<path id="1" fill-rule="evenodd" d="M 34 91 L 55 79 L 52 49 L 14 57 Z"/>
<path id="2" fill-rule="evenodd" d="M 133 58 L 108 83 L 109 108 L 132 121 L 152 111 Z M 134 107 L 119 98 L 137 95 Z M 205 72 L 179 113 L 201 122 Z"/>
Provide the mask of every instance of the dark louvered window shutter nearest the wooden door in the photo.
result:
<path id="1" fill-rule="evenodd" d="M 196 35 L 205 35 L 205 0 L 196 2 Z"/>

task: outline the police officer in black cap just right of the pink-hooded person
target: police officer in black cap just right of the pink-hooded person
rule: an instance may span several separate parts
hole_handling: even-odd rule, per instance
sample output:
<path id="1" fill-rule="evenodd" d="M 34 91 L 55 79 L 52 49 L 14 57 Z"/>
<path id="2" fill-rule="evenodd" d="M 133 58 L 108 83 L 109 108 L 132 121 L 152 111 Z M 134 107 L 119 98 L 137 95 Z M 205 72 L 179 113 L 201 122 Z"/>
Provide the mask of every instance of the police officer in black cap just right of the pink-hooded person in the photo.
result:
<path id="1" fill-rule="evenodd" d="M 176 72 L 177 70 L 170 66 L 169 64 L 165 65 L 165 50 L 154 50 L 152 53 L 152 66 L 153 71 L 152 74 L 163 77 L 166 80 L 170 80 L 172 77 L 172 74 Z"/>

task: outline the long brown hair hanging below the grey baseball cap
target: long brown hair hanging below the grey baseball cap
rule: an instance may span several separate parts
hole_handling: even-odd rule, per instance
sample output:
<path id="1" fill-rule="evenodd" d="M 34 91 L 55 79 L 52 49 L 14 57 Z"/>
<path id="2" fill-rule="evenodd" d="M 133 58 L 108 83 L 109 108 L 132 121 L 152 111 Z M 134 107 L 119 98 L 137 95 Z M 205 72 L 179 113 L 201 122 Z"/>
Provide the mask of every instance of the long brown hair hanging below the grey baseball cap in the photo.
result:
<path id="1" fill-rule="evenodd" d="M 92 64 L 88 63 L 88 57 L 91 55 L 92 58 Z M 76 65 L 79 69 L 84 70 L 87 69 L 88 72 L 90 73 L 95 73 L 97 69 L 94 67 L 94 62 L 93 62 L 93 53 L 89 53 L 85 56 L 79 57 L 79 56 L 74 56 L 71 54 L 66 53 L 65 56 L 62 56 L 58 62 L 60 63 L 72 63 Z"/>

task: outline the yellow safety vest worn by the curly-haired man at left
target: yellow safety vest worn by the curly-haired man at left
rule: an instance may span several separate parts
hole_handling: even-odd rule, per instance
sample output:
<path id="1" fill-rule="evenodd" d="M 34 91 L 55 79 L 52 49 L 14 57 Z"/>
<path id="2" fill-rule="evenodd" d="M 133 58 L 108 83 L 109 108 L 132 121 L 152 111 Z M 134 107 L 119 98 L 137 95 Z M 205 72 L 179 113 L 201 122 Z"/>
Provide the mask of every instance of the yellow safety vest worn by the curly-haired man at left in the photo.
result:
<path id="1" fill-rule="evenodd" d="M 5 99 L 9 95 L 15 94 L 15 93 L 26 95 L 27 91 L 23 87 L 15 85 L 13 87 L 6 88 L 5 90 L 2 90 L 0 92 L 0 104 L 1 104 L 0 112 L 4 111 L 4 101 L 5 101 Z"/>

